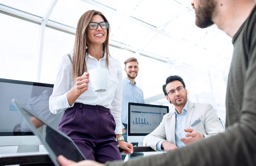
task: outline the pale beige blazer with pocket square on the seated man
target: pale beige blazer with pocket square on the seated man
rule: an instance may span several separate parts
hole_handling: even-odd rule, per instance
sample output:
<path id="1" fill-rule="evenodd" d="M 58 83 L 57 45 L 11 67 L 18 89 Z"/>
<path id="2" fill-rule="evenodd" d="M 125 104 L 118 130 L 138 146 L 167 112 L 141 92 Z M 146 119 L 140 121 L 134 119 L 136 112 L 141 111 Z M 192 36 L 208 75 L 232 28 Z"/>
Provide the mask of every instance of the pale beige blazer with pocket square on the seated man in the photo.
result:
<path id="1" fill-rule="evenodd" d="M 200 119 L 200 122 L 192 125 L 198 119 Z M 224 131 L 222 123 L 211 104 L 190 101 L 186 113 L 185 128 L 193 128 L 205 136 L 216 135 Z M 143 146 L 150 146 L 156 150 L 156 145 L 161 140 L 167 140 L 176 145 L 174 111 L 164 115 L 159 126 L 152 133 L 146 135 Z"/>

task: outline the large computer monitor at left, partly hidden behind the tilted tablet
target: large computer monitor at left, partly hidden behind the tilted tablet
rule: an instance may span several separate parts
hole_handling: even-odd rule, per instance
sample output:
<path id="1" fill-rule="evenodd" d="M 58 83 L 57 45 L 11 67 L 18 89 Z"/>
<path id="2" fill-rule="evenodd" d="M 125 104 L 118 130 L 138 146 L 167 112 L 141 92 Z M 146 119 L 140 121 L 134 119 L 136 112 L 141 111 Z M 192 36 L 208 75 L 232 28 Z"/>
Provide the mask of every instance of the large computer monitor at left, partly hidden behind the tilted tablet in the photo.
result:
<path id="1" fill-rule="evenodd" d="M 49 111 L 49 96 L 52 94 L 53 86 L 53 84 L 0 78 L 0 146 L 17 146 L 17 150 L 12 148 L 15 153 L 39 151 L 40 140 L 22 120 L 20 112 L 13 106 L 11 100 L 13 98 L 19 100 L 49 124 L 58 128 L 63 113 L 54 115 Z M 44 133 L 45 127 L 39 125 L 38 131 Z"/>

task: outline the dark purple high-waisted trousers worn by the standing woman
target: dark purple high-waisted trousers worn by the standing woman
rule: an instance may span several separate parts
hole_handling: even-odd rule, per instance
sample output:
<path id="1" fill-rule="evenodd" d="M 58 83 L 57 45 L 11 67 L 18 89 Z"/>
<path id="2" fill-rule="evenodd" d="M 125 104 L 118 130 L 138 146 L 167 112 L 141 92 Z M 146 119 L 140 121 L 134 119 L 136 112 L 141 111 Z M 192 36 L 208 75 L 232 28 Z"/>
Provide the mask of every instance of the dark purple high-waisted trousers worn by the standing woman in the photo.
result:
<path id="1" fill-rule="evenodd" d="M 101 163 L 121 160 L 115 127 L 108 108 L 81 103 L 68 108 L 59 124 L 59 130 L 74 141 L 86 159 Z"/>

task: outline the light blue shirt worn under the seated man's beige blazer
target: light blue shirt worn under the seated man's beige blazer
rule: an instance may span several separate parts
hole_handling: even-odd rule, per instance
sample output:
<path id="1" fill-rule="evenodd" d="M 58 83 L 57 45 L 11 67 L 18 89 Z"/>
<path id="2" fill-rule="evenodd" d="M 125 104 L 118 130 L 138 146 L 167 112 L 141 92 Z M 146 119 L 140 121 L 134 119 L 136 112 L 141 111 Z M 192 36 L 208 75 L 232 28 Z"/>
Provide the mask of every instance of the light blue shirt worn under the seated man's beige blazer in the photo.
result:
<path id="1" fill-rule="evenodd" d="M 185 106 L 182 109 L 182 113 L 179 115 L 178 112 L 174 111 L 175 113 L 175 141 L 176 141 L 176 146 L 178 148 L 181 148 L 182 146 L 185 146 L 182 141 L 180 141 L 180 138 L 186 137 L 186 132 L 184 131 L 185 129 L 185 123 L 186 123 L 186 111 L 188 109 L 189 105 L 189 100 L 186 102 Z M 159 141 L 157 143 L 157 150 L 163 151 L 164 149 L 161 148 L 162 142 L 165 140 Z"/>

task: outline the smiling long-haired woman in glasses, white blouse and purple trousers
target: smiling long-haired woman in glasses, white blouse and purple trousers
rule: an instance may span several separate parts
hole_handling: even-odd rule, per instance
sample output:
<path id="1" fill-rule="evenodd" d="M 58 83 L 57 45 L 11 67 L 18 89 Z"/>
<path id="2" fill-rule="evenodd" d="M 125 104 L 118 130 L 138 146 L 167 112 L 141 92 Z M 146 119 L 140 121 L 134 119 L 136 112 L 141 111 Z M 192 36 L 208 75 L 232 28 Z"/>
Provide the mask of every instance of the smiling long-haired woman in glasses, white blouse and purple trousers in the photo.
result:
<path id="1" fill-rule="evenodd" d="M 99 11 L 85 12 L 76 28 L 74 50 L 59 66 L 50 111 L 65 111 L 59 130 L 72 138 L 87 159 L 101 163 L 121 160 L 119 148 L 131 154 L 121 127 L 122 69 L 109 53 L 110 26 Z M 89 84 L 90 70 L 108 69 L 108 87 L 95 92 Z"/>

